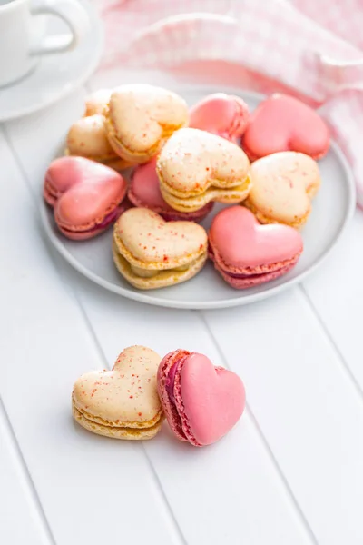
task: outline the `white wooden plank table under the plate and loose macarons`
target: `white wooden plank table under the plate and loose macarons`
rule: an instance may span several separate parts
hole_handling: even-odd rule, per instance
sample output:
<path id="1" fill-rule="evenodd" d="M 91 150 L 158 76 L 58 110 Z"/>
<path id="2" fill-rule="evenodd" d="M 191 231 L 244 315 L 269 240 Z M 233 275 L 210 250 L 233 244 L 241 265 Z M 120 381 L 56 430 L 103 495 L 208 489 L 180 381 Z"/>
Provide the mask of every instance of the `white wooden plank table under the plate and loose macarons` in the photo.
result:
<path id="1" fill-rule="evenodd" d="M 104 77 L 91 86 L 124 81 Z M 37 213 L 84 92 L 0 127 L 0 543 L 361 545 L 363 213 L 309 281 L 267 302 L 188 312 L 122 299 L 54 253 Z M 167 429 L 144 443 L 83 431 L 75 379 L 133 343 L 238 372 L 240 423 L 205 449 Z"/>

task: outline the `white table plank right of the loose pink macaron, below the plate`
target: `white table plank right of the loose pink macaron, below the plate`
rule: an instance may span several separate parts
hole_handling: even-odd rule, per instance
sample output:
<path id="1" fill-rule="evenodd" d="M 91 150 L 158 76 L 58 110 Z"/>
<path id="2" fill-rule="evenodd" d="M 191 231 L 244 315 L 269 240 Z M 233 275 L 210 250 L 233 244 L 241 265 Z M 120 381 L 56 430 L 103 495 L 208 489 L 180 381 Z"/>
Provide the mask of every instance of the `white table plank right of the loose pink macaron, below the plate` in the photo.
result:
<path id="1" fill-rule="evenodd" d="M 360 544 L 363 407 L 302 293 L 203 316 L 319 544 Z"/>

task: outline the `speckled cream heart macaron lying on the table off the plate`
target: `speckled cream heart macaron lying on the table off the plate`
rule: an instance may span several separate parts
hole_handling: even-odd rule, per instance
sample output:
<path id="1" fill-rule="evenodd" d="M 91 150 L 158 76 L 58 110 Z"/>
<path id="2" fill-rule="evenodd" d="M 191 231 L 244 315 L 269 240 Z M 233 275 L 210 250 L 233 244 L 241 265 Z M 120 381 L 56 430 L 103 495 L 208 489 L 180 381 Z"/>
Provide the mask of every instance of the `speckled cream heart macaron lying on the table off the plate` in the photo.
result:
<path id="1" fill-rule="evenodd" d="M 156 374 L 160 356 L 150 348 L 126 348 L 112 371 L 83 374 L 74 384 L 74 420 L 116 439 L 152 439 L 162 426 Z"/>

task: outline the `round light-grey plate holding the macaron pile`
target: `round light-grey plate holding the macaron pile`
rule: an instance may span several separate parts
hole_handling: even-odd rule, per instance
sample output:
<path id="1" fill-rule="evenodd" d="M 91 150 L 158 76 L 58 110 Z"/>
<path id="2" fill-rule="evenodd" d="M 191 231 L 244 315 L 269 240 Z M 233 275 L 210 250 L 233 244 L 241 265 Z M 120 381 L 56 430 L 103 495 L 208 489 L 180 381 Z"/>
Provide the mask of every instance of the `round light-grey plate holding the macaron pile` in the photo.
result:
<path id="1" fill-rule="evenodd" d="M 178 89 L 175 89 L 178 91 Z M 250 94 L 236 89 L 221 89 L 205 86 L 182 86 L 180 94 L 189 104 L 194 104 L 202 96 L 216 92 L 240 94 L 254 109 L 263 99 L 261 95 Z M 54 223 L 53 213 L 42 202 L 44 229 L 55 248 L 68 263 L 84 276 L 111 292 L 118 293 L 135 301 L 164 307 L 182 309 L 218 309 L 260 301 L 275 293 L 301 282 L 328 255 L 347 225 L 348 218 L 355 208 L 355 185 L 348 163 L 338 145 L 332 143 L 329 154 L 319 161 L 321 188 L 313 201 L 312 213 L 301 234 L 304 239 L 304 252 L 296 267 L 285 276 L 248 290 L 235 290 L 223 282 L 211 263 L 188 282 L 159 290 L 141 291 L 123 280 L 113 265 L 111 252 L 112 229 L 90 241 L 70 241 L 59 233 Z M 213 215 L 221 210 L 214 207 L 202 225 L 208 228 Z"/>

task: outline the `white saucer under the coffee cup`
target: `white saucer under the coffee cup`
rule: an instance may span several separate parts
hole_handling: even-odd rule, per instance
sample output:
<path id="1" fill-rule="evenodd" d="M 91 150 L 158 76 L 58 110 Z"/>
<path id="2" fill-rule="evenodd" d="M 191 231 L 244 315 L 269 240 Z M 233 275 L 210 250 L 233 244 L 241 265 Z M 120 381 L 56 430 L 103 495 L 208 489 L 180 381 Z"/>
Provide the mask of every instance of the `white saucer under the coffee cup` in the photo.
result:
<path id="1" fill-rule="evenodd" d="M 74 51 L 44 55 L 32 74 L 0 89 L 0 123 L 53 104 L 93 74 L 103 51 L 103 29 L 89 2 L 79 2 L 91 19 L 89 35 Z"/>

